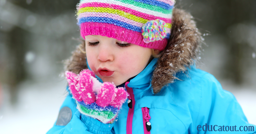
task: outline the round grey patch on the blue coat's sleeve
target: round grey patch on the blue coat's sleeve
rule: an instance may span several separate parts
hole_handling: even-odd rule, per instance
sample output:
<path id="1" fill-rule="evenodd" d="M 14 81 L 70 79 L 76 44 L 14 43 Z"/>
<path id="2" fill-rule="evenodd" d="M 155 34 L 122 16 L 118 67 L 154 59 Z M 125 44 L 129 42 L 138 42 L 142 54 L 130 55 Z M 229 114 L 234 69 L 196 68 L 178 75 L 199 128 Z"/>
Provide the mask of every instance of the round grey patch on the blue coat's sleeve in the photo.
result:
<path id="1" fill-rule="evenodd" d="M 72 118 L 72 111 L 69 107 L 62 107 L 59 112 L 59 116 L 56 125 L 66 126 Z"/>

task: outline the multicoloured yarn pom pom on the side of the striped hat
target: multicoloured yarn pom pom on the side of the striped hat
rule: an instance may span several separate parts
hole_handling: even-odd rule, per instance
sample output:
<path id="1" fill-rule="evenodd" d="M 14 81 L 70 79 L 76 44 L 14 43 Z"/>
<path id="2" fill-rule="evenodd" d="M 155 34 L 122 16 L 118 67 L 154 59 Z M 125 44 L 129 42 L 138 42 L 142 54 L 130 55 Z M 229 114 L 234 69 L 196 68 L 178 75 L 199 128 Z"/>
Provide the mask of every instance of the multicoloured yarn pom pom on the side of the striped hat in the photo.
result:
<path id="1" fill-rule="evenodd" d="M 150 20 L 142 26 L 143 41 L 145 43 L 162 40 L 165 38 L 167 24 L 163 20 Z"/>

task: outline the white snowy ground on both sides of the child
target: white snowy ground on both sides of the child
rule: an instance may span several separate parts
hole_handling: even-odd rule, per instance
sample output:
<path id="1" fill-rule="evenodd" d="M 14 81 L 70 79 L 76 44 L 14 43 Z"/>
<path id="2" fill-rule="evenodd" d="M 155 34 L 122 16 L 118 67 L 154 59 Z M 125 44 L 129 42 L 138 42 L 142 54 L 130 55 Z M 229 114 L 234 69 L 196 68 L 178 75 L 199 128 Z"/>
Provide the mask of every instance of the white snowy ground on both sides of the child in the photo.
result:
<path id="1" fill-rule="evenodd" d="M 15 107 L 8 102 L 8 87 L 3 86 L 0 133 L 45 134 L 58 116 L 59 107 L 66 96 L 65 86 L 66 81 L 58 79 L 44 83 L 25 82 L 19 87 L 18 104 Z M 228 84 L 223 85 L 223 88 L 236 96 L 249 123 L 256 124 L 255 89 Z"/>

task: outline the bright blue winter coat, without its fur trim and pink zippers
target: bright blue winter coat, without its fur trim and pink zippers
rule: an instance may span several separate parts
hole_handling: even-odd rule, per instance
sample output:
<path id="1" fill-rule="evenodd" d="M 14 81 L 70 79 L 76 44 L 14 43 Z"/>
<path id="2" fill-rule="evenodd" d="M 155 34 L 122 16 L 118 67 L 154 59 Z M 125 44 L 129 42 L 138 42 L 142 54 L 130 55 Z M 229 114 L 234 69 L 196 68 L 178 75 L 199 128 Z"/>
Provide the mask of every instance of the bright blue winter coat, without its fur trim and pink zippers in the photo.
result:
<path id="1" fill-rule="evenodd" d="M 188 69 L 188 76 L 182 72 L 176 73 L 182 81 L 177 80 L 163 87 L 158 94 L 153 94 L 151 76 L 157 60 L 154 58 L 127 85 L 132 88 L 135 99 L 134 115 L 131 117 L 132 124 L 127 124 L 129 111 L 127 101 L 123 104 L 117 121 L 113 124 L 103 124 L 90 117 L 82 116 L 81 118 L 81 114 L 76 109 L 75 101 L 69 94 L 60 109 L 63 107 L 71 109 L 70 122 L 63 126 L 55 123 L 47 133 L 125 134 L 131 131 L 134 134 L 249 134 L 256 132 L 256 126 L 248 124 L 234 95 L 223 90 L 213 75 L 196 69 L 194 66 Z M 145 131 L 145 119 L 142 117 L 144 107 L 149 108 L 150 132 Z M 131 125 L 131 127 L 127 127 L 127 125 Z M 232 128 L 233 130 L 236 128 L 235 130 L 238 131 L 231 131 Z M 213 132 L 209 132 L 211 130 Z"/>

